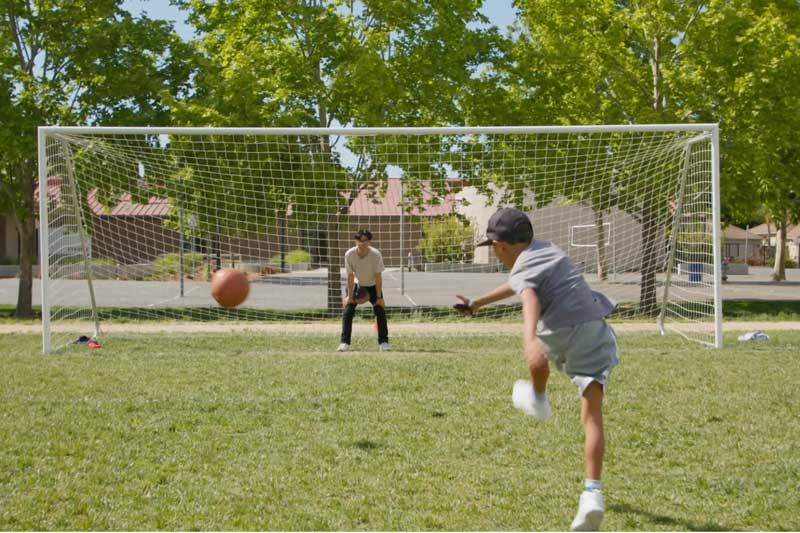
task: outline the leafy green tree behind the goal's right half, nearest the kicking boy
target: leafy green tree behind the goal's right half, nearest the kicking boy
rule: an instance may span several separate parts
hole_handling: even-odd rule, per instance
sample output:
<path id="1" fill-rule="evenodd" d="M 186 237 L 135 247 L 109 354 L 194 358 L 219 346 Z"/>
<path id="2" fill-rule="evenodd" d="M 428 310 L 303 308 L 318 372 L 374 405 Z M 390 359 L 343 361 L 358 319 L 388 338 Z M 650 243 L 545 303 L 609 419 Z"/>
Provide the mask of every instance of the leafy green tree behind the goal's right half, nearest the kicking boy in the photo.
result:
<path id="1" fill-rule="evenodd" d="M 519 0 L 519 37 L 501 65 L 505 99 L 522 123 L 618 124 L 682 122 L 691 115 L 681 94 L 687 36 L 703 1 Z M 644 136 L 636 142 L 647 143 Z M 670 220 L 659 176 L 615 169 L 614 200 L 642 228 L 639 306 L 656 309 L 655 247 Z M 616 178 L 615 178 L 616 179 Z M 638 182 L 640 186 L 630 186 Z M 629 186 L 626 186 L 629 185 Z M 605 187 L 599 191 L 609 190 Z M 582 195 L 581 191 L 577 191 Z M 605 194 L 586 198 L 602 213 Z"/>

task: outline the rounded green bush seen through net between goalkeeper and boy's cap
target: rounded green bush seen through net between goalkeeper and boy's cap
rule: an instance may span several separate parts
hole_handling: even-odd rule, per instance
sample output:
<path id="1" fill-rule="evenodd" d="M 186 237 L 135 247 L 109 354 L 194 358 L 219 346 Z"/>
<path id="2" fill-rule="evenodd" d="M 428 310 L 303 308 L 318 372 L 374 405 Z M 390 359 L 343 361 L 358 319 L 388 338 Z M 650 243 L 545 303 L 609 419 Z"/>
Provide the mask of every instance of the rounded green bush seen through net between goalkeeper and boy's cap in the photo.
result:
<path id="1" fill-rule="evenodd" d="M 417 248 L 429 263 L 470 263 L 475 228 L 456 216 L 422 221 L 422 240 Z"/>

